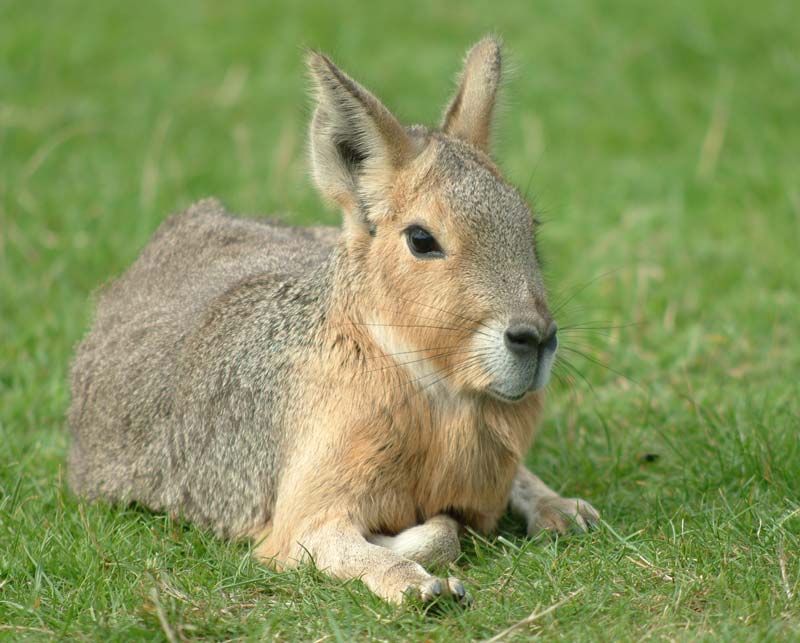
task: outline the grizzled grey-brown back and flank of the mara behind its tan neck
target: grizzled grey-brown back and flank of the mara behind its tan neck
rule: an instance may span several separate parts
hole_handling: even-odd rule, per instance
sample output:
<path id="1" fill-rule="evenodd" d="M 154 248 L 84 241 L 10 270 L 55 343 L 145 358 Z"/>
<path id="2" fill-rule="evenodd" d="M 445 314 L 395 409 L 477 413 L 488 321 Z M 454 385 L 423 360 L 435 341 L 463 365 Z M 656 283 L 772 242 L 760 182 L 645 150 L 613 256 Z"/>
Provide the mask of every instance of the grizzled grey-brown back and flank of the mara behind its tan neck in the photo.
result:
<path id="1" fill-rule="evenodd" d="M 263 523 L 282 439 L 271 389 L 292 349 L 275 330 L 297 323 L 288 312 L 303 314 L 281 297 L 318 281 L 308 276 L 335 237 L 230 217 L 213 200 L 165 221 L 101 292 L 73 362 L 73 488 L 182 512 L 223 533 Z M 263 346 L 239 341 L 254 326 Z M 241 506 L 226 511 L 226 502 Z M 241 524 L 223 524 L 223 513 Z"/>

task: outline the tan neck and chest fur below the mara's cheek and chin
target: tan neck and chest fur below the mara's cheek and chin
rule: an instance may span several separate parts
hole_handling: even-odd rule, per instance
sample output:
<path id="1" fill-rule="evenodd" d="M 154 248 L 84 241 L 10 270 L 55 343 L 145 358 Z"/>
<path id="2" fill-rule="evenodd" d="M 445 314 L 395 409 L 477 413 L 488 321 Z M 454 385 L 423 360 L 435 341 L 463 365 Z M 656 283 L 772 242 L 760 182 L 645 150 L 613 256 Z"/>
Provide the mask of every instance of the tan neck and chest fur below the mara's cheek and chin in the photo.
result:
<path id="1" fill-rule="evenodd" d="M 357 477 L 359 463 L 369 462 L 369 471 L 381 477 L 353 480 L 353 488 L 369 485 L 374 500 L 382 494 L 394 498 L 375 500 L 364 512 L 371 523 L 365 527 L 394 532 L 451 511 L 475 528 L 493 528 L 532 440 L 541 395 L 508 404 L 454 390 L 442 378 L 453 367 L 437 374 L 417 357 L 423 353 L 406 353 L 413 346 L 380 321 L 376 302 L 362 301 L 357 284 L 337 286 L 342 290 L 334 297 L 323 344 L 329 385 L 337 391 L 331 403 L 336 415 L 347 416 L 349 455 L 341 475 Z M 349 399 L 342 387 L 358 391 L 356 404 L 341 402 Z M 376 507 L 380 511 L 372 515 Z"/>

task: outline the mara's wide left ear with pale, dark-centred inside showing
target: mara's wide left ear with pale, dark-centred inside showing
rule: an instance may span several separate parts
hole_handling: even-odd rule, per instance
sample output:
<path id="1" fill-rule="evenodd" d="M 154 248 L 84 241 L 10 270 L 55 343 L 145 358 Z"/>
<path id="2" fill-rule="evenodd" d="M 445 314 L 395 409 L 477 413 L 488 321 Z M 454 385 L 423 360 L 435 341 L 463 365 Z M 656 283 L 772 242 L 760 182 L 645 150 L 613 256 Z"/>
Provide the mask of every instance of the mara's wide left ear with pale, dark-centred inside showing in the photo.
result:
<path id="1" fill-rule="evenodd" d="M 307 63 L 317 100 L 310 136 L 314 182 L 325 198 L 354 214 L 362 178 L 391 180 L 412 157 L 411 139 L 375 96 L 327 56 L 312 51 Z"/>

